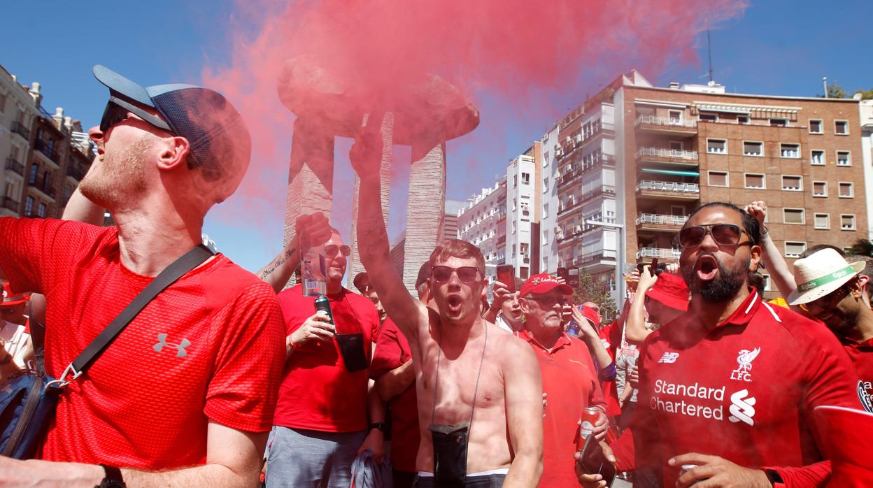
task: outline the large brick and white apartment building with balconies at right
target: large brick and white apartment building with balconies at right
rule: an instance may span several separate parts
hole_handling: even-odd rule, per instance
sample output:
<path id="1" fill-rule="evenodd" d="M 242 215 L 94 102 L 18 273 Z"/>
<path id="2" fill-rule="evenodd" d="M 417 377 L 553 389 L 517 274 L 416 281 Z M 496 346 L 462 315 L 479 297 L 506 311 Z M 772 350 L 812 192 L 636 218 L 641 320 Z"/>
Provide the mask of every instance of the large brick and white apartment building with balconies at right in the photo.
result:
<path id="1" fill-rule="evenodd" d="M 546 147 L 557 191 L 544 204 L 558 208 L 558 265 L 586 267 L 606 285 L 623 262 L 675 261 L 686 216 L 713 201 L 764 200 L 789 262 L 815 244 L 848 247 L 868 237 L 861 132 L 858 100 L 661 88 L 622 75 L 544 136 L 557 140 Z M 623 235 L 612 241 L 614 232 Z"/>

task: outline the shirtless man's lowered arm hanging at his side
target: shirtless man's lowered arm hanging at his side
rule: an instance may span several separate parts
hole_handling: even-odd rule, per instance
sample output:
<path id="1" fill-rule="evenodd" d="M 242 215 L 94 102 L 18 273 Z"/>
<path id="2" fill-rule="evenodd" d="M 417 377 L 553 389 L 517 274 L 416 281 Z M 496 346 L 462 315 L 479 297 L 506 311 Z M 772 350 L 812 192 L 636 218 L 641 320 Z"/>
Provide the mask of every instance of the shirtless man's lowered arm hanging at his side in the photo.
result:
<path id="1" fill-rule="evenodd" d="M 503 361 L 506 391 L 506 425 L 515 457 L 503 484 L 536 486 L 543 471 L 543 402 L 540 365 L 533 349 L 507 338 Z M 567 463 L 572 460 L 567 459 Z"/>

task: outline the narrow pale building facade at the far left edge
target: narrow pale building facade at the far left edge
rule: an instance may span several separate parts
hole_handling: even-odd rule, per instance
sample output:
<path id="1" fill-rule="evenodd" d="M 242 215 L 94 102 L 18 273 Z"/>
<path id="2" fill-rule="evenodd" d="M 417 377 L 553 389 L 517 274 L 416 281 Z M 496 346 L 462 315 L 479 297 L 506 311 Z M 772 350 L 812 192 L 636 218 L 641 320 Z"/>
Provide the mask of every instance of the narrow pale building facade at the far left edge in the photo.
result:
<path id="1" fill-rule="evenodd" d="M 39 84 L 33 84 L 39 93 Z M 0 66 L 0 216 L 18 216 L 24 169 L 31 151 L 31 127 L 39 109 L 30 91 Z"/>

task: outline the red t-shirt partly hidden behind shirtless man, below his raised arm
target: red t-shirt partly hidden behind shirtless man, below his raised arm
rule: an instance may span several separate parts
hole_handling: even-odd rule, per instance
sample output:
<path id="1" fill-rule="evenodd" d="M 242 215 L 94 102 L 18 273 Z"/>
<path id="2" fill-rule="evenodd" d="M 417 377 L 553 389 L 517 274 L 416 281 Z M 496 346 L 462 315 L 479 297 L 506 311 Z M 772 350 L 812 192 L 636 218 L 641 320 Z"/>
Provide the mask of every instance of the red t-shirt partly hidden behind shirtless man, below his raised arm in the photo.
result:
<path id="1" fill-rule="evenodd" d="M 391 319 L 382 322 L 370 377 L 378 379 L 412 359 L 409 341 Z M 415 382 L 388 401 L 391 409 L 391 465 L 398 471 L 416 471 L 421 433 L 418 431 L 418 400 Z"/>

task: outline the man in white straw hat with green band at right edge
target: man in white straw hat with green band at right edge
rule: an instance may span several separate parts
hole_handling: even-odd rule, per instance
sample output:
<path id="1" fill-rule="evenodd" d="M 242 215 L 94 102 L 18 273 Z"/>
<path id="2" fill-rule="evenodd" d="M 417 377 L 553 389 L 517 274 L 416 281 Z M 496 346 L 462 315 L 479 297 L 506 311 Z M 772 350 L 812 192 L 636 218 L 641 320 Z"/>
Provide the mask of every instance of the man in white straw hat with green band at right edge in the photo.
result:
<path id="1" fill-rule="evenodd" d="M 822 249 L 794 261 L 797 290 L 788 303 L 801 306 L 842 342 L 861 379 L 858 400 L 873 413 L 873 310 L 864 303 L 863 261 L 849 264 L 837 251 Z"/>

